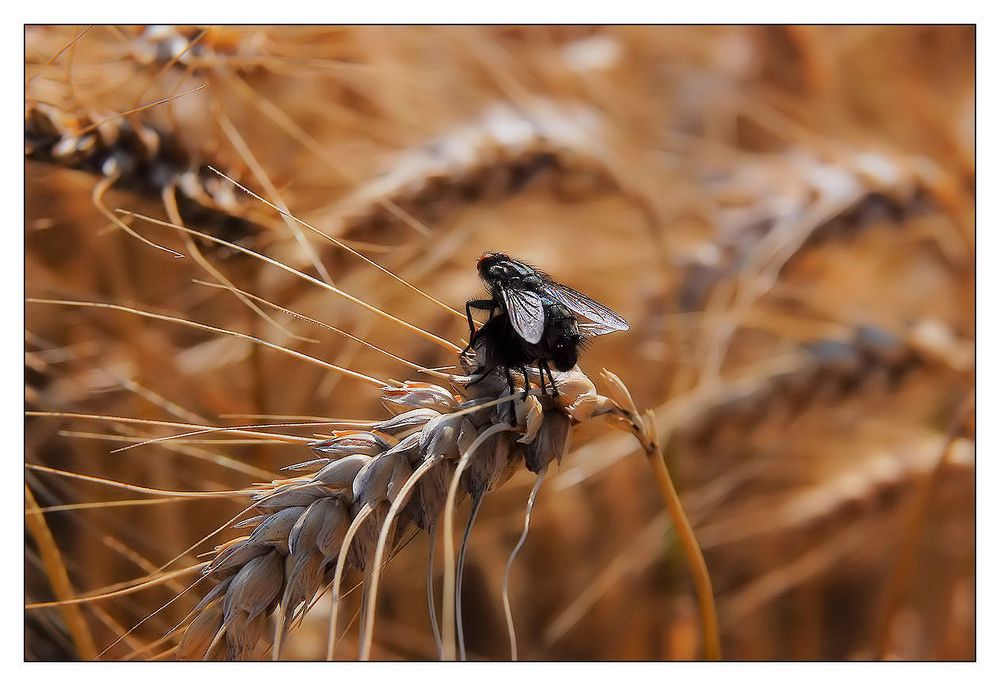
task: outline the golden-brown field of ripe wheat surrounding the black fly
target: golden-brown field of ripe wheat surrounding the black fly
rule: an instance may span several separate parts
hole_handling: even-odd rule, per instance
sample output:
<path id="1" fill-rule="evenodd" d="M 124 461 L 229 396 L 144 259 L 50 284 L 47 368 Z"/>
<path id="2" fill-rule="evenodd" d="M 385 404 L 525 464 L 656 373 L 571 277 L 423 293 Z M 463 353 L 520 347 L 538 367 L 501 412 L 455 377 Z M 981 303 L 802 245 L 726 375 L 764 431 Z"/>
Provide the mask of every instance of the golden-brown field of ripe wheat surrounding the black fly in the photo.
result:
<path id="1" fill-rule="evenodd" d="M 975 659 L 974 56 L 27 26 L 25 659 Z"/>

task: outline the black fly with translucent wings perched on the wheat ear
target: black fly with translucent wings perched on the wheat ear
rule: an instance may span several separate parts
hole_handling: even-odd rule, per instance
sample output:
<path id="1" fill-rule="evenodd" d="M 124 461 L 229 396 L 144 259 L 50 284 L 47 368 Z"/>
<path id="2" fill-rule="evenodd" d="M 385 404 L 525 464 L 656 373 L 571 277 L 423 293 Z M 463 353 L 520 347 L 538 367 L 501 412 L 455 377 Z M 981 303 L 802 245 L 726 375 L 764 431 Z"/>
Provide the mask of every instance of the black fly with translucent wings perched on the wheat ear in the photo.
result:
<path id="1" fill-rule="evenodd" d="M 561 372 L 569 371 L 587 337 L 628 330 L 628 322 L 610 308 L 504 253 L 485 253 L 477 268 L 490 298 L 465 304 L 470 333 L 466 350 L 474 348 L 480 362 L 479 378 L 473 383 L 502 368 L 513 388 L 510 370 L 518 369 L 524 375 L 527 395 L 527 368 L 537 365 L 542 391 L 548 374 L 555 397 L 550 362 Z M 478 330 L 472 321 L 473 309 L 490 313 Z M 580 323 L 576 315 L 590 321 Z"/>

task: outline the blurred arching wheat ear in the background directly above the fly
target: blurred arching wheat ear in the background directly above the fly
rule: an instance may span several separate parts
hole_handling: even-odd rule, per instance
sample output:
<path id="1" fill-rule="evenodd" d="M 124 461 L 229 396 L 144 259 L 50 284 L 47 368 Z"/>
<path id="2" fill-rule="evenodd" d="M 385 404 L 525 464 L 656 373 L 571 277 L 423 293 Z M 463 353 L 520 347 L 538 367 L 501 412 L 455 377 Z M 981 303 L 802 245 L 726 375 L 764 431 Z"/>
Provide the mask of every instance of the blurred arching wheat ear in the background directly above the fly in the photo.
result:
<path id="1" fill-rule="evenodd" d="M 518 193 L 543 176 L 568 194 L 602 185 L 621 190 L 604 133 L 596 112 L 583 105 L 494 104 L 477 120 L 400 154 L 341 203 L 337 220 L 344 232 L 407 215 L 432 222 L 456 206 Z"/>

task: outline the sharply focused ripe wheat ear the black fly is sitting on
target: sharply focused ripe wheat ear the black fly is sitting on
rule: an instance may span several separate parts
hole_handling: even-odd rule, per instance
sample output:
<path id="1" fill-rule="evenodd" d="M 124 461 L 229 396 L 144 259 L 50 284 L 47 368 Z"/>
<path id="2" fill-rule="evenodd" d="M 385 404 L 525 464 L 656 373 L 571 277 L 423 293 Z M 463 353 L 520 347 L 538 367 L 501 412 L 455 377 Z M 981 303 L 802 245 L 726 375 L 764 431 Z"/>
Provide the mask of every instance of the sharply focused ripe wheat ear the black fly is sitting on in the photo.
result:
<path id="1" fill-rule="evenodd" d="M 463 365 L 470 370 L 471 360 Z M 178 657 L 260 657 L 268 616 L 280 607 L 281 635 L 301 618 L 333 579 L 356 518 L 366 517 L 344 564 L 362 570 L 399 499 L 397 542 L 412 527 L 432 530 L 464 454 L 470 457 L 462 491 L 479 498 L 522 465 L 537 473 L 562 459 L 574 423 L 598 415 L 635 422 L 634 413 L 598 395 L 579 369 L 555 376 L 557 398 L 537 391 L 523 397 L 523 387 L 511 389 L 495 372 L 469 386 L 471 378 L 452 376 L 450 389 L 415 381 L 387 387 L 382 400 L 394 416 L 368 431 L 334 432 L 313 444 L 314 459 L 287 468 L 306 473 L 258 484 L 256 514 L 237 525 L 254 528 L 216 550 L 204 573 L 217 585 L 189 615 Z M 497 402 L 512 392 L 512 399 Z M 495 433 L 469 452 L 488 429 Z"/>

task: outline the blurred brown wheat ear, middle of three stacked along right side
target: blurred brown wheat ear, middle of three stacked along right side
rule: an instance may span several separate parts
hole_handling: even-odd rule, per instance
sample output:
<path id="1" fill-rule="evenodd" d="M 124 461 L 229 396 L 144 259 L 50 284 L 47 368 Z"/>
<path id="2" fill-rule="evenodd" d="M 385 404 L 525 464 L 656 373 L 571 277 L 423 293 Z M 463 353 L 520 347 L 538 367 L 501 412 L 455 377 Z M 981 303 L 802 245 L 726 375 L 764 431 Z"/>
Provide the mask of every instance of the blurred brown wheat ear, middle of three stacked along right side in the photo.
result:
<path id="1" fill-rule="evenodd" d="M 929 330 L 933 336 L 926 333 Z M 750 431 L 770 417 L 790 418 L 812 406 L 873 388 L 895 388 L 921 367 L 966 371 L 971 351 L 946 331 L 941 322 L 925 321 L 901 338 L 875 326 L 860 326 L 847 339 L 805 344 L 801 348 L 805 364 L 767 377 L 741 395 L 723 398 L 678 427 L 677 437 L 705 445 L 723 424 Z"/>

